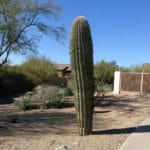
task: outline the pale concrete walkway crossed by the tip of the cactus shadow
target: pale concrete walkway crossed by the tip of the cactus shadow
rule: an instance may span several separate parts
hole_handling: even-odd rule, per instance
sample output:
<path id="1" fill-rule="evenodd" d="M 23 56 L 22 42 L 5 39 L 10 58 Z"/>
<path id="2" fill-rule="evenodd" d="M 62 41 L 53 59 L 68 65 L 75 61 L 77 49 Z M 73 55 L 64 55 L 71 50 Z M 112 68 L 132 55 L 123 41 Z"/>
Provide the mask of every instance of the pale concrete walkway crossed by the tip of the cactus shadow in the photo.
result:
<path id="1" fill-rule="evenodd" d="M 140 124 L 119 150 L 150 150 L 150 117 Z"/>

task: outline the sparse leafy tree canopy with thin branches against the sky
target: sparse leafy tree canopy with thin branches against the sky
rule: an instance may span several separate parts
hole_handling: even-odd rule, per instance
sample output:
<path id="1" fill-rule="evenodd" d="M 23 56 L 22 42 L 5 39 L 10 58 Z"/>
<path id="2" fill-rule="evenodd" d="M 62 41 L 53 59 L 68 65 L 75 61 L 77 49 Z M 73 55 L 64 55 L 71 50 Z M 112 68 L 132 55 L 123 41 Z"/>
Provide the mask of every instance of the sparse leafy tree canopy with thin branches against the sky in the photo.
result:
<path id="1" fill-rule="evenodd" d="M 63 39 L 64 28 L 51 25 L 59 12 L 55 0 L 0 0 L 0 66 L 13 52 L 34 52 L 37 31 Z"/>

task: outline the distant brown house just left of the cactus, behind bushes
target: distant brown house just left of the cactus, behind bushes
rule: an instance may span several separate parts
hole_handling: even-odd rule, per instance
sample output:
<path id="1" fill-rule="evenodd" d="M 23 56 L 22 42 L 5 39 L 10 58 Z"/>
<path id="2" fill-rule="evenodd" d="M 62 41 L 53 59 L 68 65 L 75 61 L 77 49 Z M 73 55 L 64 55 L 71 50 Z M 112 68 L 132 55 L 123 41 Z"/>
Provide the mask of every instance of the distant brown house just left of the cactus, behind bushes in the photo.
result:
<path id="1" fill-rule="evenodd" d="M 57 64 L 57 75 L 58 77 L 69 76 L 71 73 L 71 65 L 70 64 Z"/>

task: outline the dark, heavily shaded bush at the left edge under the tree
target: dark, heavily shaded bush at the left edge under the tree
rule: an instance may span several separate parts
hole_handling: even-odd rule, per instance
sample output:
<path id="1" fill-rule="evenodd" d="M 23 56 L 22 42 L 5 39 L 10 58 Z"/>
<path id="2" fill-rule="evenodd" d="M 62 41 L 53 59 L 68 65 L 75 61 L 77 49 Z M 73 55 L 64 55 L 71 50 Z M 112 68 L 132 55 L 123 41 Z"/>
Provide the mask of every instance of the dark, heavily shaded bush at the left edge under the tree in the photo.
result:
<path id="1" fill-rule="evenodd" d="M 2 74 L 0 74 L 0 97 L 23 94 L 34 87 L 32 81 L 17 70 L 19 70 L 17 66 L 0 68 L 0 72 L 2 71 Z"/>

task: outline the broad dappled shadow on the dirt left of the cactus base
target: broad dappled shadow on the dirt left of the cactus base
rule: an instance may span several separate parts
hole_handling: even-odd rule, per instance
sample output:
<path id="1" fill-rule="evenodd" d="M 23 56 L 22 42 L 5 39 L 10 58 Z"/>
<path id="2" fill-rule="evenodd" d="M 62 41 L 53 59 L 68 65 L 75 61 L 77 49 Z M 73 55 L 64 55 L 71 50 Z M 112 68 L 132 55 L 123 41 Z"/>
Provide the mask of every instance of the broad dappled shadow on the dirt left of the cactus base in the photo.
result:
<path id="1" fill-rule="evenodd" d="M 13 115 L 13 118 L 10 115 L 4 118 L 0 123 L 1 136 L 75 134 L 77 131 L 75 114 L 59 112 L 59 110 L 17 114 Z"/>

